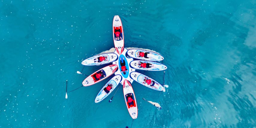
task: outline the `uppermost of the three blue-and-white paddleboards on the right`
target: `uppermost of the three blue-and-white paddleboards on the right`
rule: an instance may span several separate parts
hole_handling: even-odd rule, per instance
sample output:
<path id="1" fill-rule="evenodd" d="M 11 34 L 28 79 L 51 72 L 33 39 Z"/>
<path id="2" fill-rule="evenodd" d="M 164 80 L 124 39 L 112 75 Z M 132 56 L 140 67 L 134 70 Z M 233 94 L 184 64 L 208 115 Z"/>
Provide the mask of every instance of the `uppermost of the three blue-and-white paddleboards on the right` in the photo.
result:
<path id="1" fill-rule="evenodd" d="M 144 53 L 144 57 L 139 56 L 139 54 L 141 52 Z M 140 49 L 130 49 L 130 50 L 127 51 L 127 54 L 132 58 L 145 60 L 145 61 L 162 61 L 164 59 L 164 57 L 162 57 L 162 55 L 159 55 L 159 54 L 154 53 L 154 52 L 140 50 Z"/>

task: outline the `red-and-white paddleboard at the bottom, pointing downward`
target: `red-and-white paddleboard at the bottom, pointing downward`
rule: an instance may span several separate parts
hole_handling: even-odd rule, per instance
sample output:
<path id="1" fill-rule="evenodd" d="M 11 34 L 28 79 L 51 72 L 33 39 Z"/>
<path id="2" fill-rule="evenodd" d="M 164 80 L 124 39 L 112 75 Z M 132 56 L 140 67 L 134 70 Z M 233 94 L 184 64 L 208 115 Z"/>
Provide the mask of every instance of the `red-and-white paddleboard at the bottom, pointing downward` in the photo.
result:
<path id="1" fill-rule="evenodd" d="M 125 104 L 127 106 L 128 112 L 131 115 L 132 119 L 136 119 L 138 117 L 138 107 L 136 103 L 135 94 L 132 89 L 132 85 L 128 80 L 124 80 L 123 91 L 124 91 L 124 100 L 125 100 Z"/>

